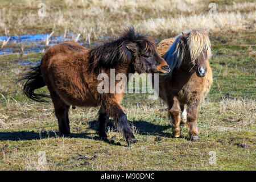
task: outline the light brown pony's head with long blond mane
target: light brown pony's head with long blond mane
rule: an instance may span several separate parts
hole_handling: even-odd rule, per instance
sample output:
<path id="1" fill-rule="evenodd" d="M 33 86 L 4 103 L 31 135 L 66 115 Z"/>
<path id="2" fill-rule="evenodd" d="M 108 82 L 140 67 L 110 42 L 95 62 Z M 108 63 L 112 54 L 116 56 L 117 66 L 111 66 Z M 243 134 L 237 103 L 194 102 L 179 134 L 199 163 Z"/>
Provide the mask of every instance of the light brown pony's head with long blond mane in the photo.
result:
<path id="1" fill-rule="evenodd" d="M 191 30 L 177 36 L 169 51 L 163 56 L 171 68 L 179 68 L 181 64 L 187 65 L 190 71 L 196 72 L 198 77 L 207 73 L 207 61 L 212 55 L 210 40 L 206 32 Z"/>

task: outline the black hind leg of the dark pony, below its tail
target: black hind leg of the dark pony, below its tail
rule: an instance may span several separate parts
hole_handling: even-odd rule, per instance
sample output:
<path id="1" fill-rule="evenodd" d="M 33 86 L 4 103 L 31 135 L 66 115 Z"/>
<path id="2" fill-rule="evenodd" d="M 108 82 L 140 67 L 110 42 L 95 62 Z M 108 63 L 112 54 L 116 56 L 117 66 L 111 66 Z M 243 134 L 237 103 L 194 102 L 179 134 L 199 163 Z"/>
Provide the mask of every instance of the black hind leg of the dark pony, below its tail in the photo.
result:
<path id="1" fill-rule="evenodd" d="M 58 119 L 59 133 L 63 137 L 70 137 L 68 110 L 67 105 L 55 91 L 50 91 L 52 102 L 54 105 L 55 115 Z"/>

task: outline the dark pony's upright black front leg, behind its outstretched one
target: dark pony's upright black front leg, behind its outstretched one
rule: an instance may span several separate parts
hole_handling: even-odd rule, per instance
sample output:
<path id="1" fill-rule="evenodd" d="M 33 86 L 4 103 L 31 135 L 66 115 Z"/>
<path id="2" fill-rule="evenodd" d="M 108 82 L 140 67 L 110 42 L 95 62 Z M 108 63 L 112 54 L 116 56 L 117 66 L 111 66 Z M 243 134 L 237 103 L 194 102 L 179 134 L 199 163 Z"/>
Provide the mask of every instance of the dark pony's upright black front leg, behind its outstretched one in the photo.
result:
<path id="1" fill-rule="evenodd" d="M 109 120 L 109 115 L 105 113 L 105 110 L 101 109 L 98 111 L 98 135 L 100 138 L 108 138 L 106 135 L 106 123 Z"/>

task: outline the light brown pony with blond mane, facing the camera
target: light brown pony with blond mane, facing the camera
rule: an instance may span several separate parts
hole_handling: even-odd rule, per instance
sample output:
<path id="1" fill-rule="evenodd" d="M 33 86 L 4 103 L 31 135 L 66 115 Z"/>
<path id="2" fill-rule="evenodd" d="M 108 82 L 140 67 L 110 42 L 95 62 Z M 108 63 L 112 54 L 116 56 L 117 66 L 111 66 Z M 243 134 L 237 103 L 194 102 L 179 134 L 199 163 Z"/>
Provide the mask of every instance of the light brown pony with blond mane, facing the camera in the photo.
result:
<path id="1" fill-rule="evenodd" d="M 180 124 L 187 123 L 191 140 L 199 140 L 197 110 L 212 85 L 209 37 L 203 31 L 191 30 L 162 40 L 157 51 L 171 69 L 168 76 L 159 77 L 159 96 L 168 104 L 173 135 L 180 137 Z"/>

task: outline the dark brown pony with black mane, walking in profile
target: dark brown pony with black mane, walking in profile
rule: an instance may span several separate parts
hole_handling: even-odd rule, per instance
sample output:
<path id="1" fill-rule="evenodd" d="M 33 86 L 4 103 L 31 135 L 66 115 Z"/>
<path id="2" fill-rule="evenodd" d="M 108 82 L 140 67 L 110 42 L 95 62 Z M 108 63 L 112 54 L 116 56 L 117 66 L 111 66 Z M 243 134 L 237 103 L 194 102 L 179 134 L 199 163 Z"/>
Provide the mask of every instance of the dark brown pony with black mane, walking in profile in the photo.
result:
<path id="1" fill-rule="evenodd" d="M 21 80 L 25 80 L 23 92 L 34 101 L 44 102 L 44 94 L 35 89 L 47 86 L 59 123 L 59 132 L 70 135 L 68 110 L 72 106 L 101 106 L 98 117 L 98 134 L 106 138 L 106 122 L 113 117 L 115 125 L 128 144 L 137 142 L 131 131 L 120 102 L 123 93 L 99 93 L 102 80 L 97 77 L 110 69 L 115 74 L 168 73 L 166 61 L 158 55 L 154 40 L 135 33 L 134 28 L 123 32 L 119 39 L 101 46 L 86 49 L 73 42 L 64 42 L 50 47 L 42 57 L 41 64 L 31 68 Z M 114 82 L 115 85 L 117 81 Z M 49 97 L 49 96 L 48 96 Z"/>

